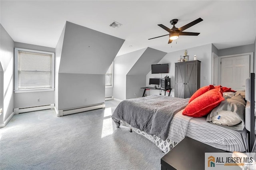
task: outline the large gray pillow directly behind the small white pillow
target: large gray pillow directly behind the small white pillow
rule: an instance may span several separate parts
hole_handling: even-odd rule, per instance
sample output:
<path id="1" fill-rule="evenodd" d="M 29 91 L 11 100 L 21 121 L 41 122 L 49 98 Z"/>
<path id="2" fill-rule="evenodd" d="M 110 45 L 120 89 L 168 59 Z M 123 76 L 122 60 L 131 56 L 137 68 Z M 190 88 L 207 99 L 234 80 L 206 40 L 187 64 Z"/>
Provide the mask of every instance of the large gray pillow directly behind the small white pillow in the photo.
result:
<path id="1" fill-rule="evenodd" d="M 234 125 L 234 126 L 227 126 L 227 125 L 219 125 L 219 124 L 215 124 L 215 125 L 219 125 L 222 127 L 226 127 L 226 128 L 230 128 L 233 130 L 243 130 L 244 129 L 244 117 L 245 117 L 245 101 L 242 97 L 242 95 L 236 95 L 233 96 L 229 99 L 226 99 L 224 101 L 222 101 L 220 103 L 220 105 L 218 105 L 217 107 L 215 107 L 210 114 L 208 114 L 206 121 L 212 123 L 212 118 L 216 117 L 218 115 L 218 112 L 220 111 L 231 111 L 234 114 L 237 115 L 237 117 L 239 117 L 239 119 L 241 120 L 241 123 Z M 228 113 L 228 112 L 227 112 Z M 222 115 L 222 117 L 220 117 L 220 119 L 228 119 L 226 120 L 227 122 L 230 121 L 228 116 L 225 117 Z M 214 119 L 214 121 L 216 121 L 216 119 Z M 225 120 L 222 120 L 225 121 Z"/>

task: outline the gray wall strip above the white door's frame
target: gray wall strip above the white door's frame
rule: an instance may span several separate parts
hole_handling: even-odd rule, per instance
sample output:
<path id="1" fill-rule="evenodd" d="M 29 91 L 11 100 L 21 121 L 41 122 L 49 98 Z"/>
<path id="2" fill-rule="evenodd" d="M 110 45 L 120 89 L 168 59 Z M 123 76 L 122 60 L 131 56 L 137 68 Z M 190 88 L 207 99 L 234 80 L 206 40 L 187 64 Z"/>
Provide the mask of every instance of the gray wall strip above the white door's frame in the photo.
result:
<path id="1" fill-rule="evenodd" d="M 255 44 L 242 45 L 238 47 L 231 47 L 225 49 L 219 49 L 218 56 L 233 55 L 233 54 L 242 54 L 254 52 Z"/>

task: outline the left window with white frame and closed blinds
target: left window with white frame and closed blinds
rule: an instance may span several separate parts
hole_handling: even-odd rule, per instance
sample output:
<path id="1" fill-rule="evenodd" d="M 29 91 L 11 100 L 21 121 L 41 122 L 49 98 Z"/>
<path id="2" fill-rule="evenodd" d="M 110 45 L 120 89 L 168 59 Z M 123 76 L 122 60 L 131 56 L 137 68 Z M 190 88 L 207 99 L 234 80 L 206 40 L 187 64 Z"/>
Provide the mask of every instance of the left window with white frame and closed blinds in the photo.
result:
<path id="1" fill-rule="evenodd" d="M 15 93 L 54 90 L 54 53 L 15 48 Z"/>

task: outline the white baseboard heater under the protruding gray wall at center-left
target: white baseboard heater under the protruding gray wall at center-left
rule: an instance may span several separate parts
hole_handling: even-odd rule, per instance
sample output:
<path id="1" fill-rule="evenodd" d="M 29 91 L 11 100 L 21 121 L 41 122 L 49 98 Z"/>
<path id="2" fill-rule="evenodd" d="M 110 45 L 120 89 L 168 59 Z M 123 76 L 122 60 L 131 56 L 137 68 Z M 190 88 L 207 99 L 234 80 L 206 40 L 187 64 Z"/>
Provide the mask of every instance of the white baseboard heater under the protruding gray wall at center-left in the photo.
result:
<path id="1" fill-rule="evenodd" d="M 76 107 L 76 108 L 72 108 L 72 109 L 59 110 L 57 116 L 60 117 L 60 116 L 64 116 L 64 115 L 70 115 L 70 114 L 74 114 L 74 113 L 80 113 L 80 112 L 91 111 L 91 110 L 102 109 L 102 108 L 105 108 L 105 103 L 100 103 L 100 104 L 96 104 L 96 105 L 88 105 L 88 106 L 84 106 L 84 107 Z"/>

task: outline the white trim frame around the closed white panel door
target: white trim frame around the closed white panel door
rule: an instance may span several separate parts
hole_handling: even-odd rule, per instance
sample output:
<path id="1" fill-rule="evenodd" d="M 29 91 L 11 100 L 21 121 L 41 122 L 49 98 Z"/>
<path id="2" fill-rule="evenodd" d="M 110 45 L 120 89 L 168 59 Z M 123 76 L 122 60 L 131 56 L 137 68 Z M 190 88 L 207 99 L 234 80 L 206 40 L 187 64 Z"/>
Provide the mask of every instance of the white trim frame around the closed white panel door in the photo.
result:
<path id="1" fill-rule="evenodd" d="M 224 55 L 224 56 L 220 56 L 218 58 L 218 85 L 220 85 L 220 76 L 221 76 L 221 65 L 220 65 L 220 62 L 221 62 L 221 59 L 222 58 L 227 58 L 227 57 L 238 57 L 238 56 L 241 56 L 241 55 L 250 55 L 250 73 L 253 73 L 253 52 L 251 53 L 241 53 L 241 54 L 233 54 L 233 55 Z M 249 74 L 250 76 L 250 74 Z"/>

